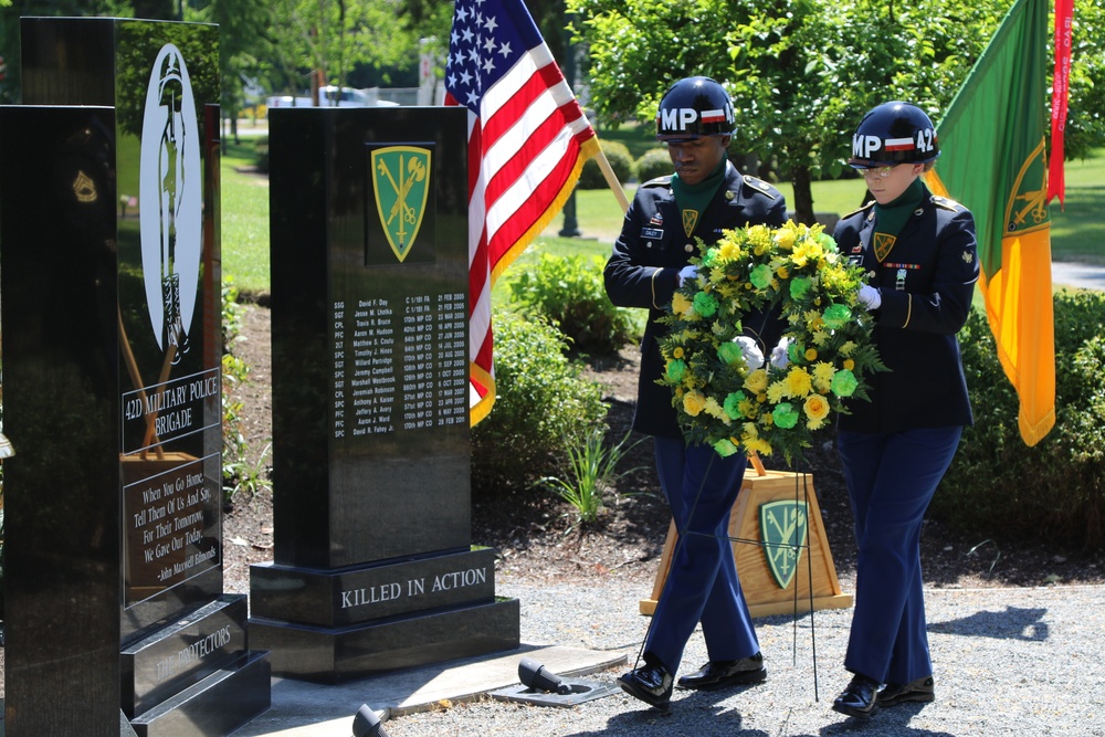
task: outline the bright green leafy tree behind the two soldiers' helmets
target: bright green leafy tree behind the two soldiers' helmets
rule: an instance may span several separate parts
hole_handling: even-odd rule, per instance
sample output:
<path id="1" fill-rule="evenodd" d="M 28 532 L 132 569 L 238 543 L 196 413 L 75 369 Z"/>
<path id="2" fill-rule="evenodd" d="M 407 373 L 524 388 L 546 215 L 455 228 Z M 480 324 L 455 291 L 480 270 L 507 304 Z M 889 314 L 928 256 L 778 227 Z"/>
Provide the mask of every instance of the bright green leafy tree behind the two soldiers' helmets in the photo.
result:
<path id="1" fill-rule="evenodd" d="M 1105 141 L 1102 0 L 1076 0 L 1084 39 L 1071 84 L 1069 155 Z M 589 44 L 589 80 L 610 124 L 652 120 L 664 90 L 692 74 L 726 84 L 734 146 L 794 186 L 797 218 L 813 222 L 811 181 L 836 177 L 863 113 L 908 99 L 938 122 L 1010 0 L 568 0 Z M 1083 35 L 1078 35 L 1080 31 Z"/>

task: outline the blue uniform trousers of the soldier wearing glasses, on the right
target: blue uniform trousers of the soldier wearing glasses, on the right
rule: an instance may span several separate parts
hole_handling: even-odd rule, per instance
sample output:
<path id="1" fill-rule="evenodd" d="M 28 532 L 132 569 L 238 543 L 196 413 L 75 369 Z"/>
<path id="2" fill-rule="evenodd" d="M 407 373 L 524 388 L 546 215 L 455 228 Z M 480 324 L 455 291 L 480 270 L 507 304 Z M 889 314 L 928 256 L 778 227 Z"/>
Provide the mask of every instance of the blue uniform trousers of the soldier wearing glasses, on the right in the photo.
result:
<path id="1" fill-rule="evenodd" d="M 844 667 L 880 683 L 933 674 L 920 572 L 920 526 L 962 428 L 840 431 L 836 445 L 859 546 Z"/>

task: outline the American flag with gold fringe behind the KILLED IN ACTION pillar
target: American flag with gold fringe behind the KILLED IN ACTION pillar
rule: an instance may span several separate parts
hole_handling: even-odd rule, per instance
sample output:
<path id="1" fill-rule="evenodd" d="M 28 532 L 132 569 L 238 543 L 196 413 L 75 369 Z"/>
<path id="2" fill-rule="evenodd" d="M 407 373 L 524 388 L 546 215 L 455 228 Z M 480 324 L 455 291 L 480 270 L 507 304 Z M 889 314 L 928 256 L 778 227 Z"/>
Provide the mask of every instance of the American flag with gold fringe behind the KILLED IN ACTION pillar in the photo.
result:
<path id="1" fill-rule="evenodd" d="M 445 104 L 469 108 L 475 424 L 495 401 L 491 288 L 564 207 L 599 143 L 522 0 L 456 0 Z"/>

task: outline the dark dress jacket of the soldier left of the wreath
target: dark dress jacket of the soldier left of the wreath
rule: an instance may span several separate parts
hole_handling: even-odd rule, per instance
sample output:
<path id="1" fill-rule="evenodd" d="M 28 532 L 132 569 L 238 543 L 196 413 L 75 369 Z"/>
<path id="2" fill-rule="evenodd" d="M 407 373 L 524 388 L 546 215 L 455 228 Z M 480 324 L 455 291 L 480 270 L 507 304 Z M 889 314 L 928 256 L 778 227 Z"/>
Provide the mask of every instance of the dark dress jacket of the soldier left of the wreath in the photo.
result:
<path id="1" fill-rule="evenodd" d="M 671 180 L 671 177 L 659 177 L 636 190 L 607 263 L 604 278 L 607 294 L 615 305 L 649 309 L 649 323 L 641 341 L 641 376 L 633 429 L 649 435 L 682 438 L 672 406 L 672 390 L 656 383 L 664 370 L 660 339 L 667 330 L 667 326 L 657 324 L 656 319 L 671 312 L 680 270 L 698 253 L 696 238 L 711 244 L 720 239 L 723 230 L 749 224 L 778 228 L 786 222 L 787 204 L 775 187 L 755 177 L 741 176 L 727 161 L 725 181 L 688 238 L 683 230 Z M 765 356 L 775 347 L 780 334 L 778 329 L 770 329 L 772 322 L 766 317 L 745 320 L 746 333 L 760 340 Z M 766 335 L 765 330 L 771 335 Z"/>

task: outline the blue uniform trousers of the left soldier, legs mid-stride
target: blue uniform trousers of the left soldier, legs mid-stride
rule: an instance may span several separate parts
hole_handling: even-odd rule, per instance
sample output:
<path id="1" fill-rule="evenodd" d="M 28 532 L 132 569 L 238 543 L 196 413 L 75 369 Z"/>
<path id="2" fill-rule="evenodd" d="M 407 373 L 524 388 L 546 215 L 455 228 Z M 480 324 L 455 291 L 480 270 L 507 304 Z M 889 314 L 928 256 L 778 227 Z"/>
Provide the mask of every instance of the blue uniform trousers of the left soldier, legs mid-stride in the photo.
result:
<path id="1" fill-rule="evenodd" d="M 674 674 L 701 621 L 711 661 L 755 655 L 759 643 L 728 539 L 729 513 L 748 461 L 739 453 L 723 459 L 709 446 L 687 448 L 667 438 L 655 439 L 655 452 L 660 485 L 681 536 L 645 653 Z"/>

